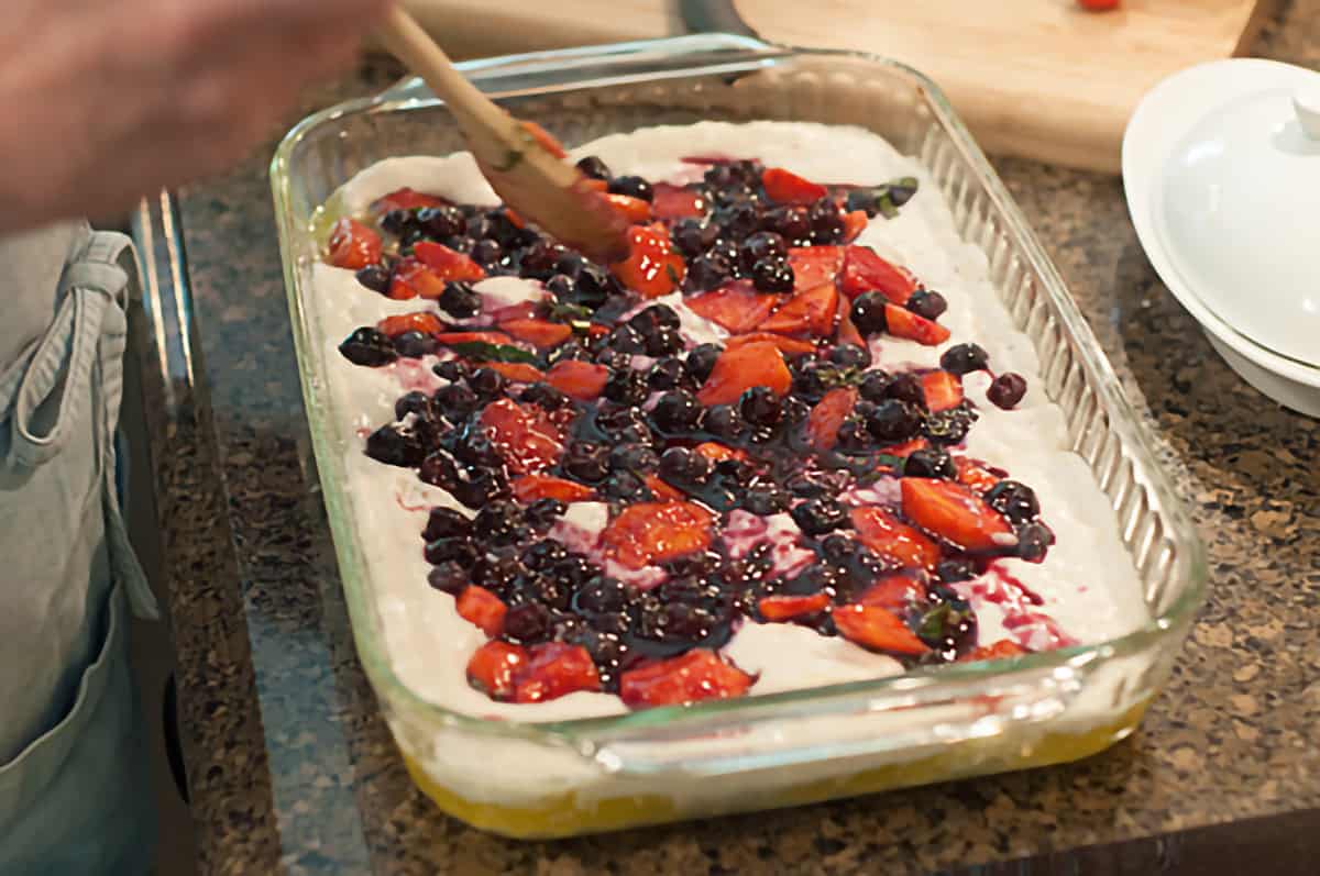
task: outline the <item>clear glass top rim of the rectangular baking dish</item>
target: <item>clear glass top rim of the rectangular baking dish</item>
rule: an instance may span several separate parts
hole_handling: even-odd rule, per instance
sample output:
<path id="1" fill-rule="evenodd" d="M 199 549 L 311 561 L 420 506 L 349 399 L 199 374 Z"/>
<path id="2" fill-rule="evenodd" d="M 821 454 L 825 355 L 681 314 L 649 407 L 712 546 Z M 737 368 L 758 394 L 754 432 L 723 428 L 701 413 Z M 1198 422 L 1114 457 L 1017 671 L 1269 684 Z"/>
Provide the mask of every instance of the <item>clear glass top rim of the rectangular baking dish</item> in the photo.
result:
<path id="1" fill-rule="evenodd" d="M 730 42 L 737 42 L 742 46 L 756 42 L 746 37 L 727 36 L 730 37 Z M 663 50 L 665 44 L 675 42 L 676 40 L 682 40 L 682 37 L 642 41 L 626 45 L 647 45 Z M 903 673 L 886 678 L 825 685 L 758 697 L 711 701 L 692 706 L 660 707 L 603 718 L 582 718 L 558 722 L 521 722 L 515 719 L 492 720 L 453 711 L 432 701 L 424 699 L 395 674 L 385 645 L 384 642 L 378 641 L 376 629 L 372 625 L 375 623 L 372 617 L 374 608 L 370 604 L 371 595 L 367 592 L 368 587 L 366 584 L 367 574 L 364 563 L 358 553 L 356 537 L 351 532 L 346 532 L 345 534 L 348 537 L 337 537 L 334 538 L 334 544 L 339 561 L 339 573 L 343 582 L 345 598 L 347 600 L 352 621 L 354 639 L 367 675 L 372 679 L 372 683 L 378 686 L 379 693 L 391 706 L 397 706 L 395 702 L 397 698 L 403 701 L 403 704 L 407 708 L 420 711 L 446 727 L 466 732 L 570 745 L 585 740 L 601 739 L 602 736 L 612 739 L 627 737 L 627 731 L 630 730 L 649 731 L 660 726 L 673 727 L 680 724 L 692 724 L 693 730 L 700 730 L 702 723 L 711 722 L 717 718 L 737 718 L 739 715 L 746 715 L 748 719 L 756 720 L 774 719 L 776 706 L 803 706 L 809 704 L 813 701 L 853 697 L 861 698 L 867 695 L 878 697 L 887 694 L 912 694 L 916 690 L 927 691 L 942 687 L 948 687 L 950 693 L 965 695 L 968 682 L 989 682 L 991 679 L 1010 681 L 1015 675 L 1036 674 L 1043 670 L 1077 669 L 1097 661 L 1109 661 L 1139 653 L 1146 648 L 1158 644 L 1160 640 L 1168 637 L 1181 623 L 1189 621 L 1189 619 L 1195 616 L 1201 604 L 1205 602 L 1208 570 L 1205 565 L 1204 545 L 1192 526 L 1181 500 L 1168 483 L 1168 479 L 1155 459 L 1146 427 L 1142 426 L 1135 410 L 1127 402 L 1126 397 L 1118 391 L 1118 376 L 1114 373 L 1107 356 L 1100 347 L 1100 342 L 1096 339 L 1094 332 L 1086 323 L 1072 296 L 1067 292 L 1067 286 L 1049 256 L 1045 253 L 1040 241 L 1036 239 L 1035 232 L 1031 231 L 1026 218 L 1012 201 L 1012 197 L 1008 194 L 1007 189 L 1005 189 L 998 174 L 990 166 L 985 154 L 981 152 L 979 146 L 975 144 L 970 132 L 962 124 L 961 119 L 940 87 L 924 74 L 907 65 L 869 53 L 833 49 L 805 49 L 768 42 L 760 45 L 764 46 L 766 61 L 846 58 L 886 67 L 892 73 L 898 73 L 899 75 L 912 79 L 913 84 L 916 84 L 925 94 L 931 110 L 940 117 L 941 123 L 950 132 L 954 145 L 960 153 L 962 153 L 962 157 L 968 161 L 969 166 L 975 172 L 978 181 L 985 186 L 986 193 L 994 202 L 995 208 L 999 211 L 1001 216 L 1006 220 L 1012 232 L 1022 240 L 1023 251 L 1030 259 L 1032 270 L 1035 270 L 1044 281 L 1041 284 L 1041 292 L 1051 301 L 1053 311 L 1060 318 L 1063 325 L 1067 326 L 1068 331 L 1071 331 L 1078 340 L 1077 352 L 1088 360 L 1088 365 L 1096 369 L 1097 375 L 1101 377 L 1101 385 L 1096 387 L 1094 391 L 1097 394 L 1105 397 L 1105 410 L 1111 414 L 1110 429 L 1123 433 L 1122 446 L 1126 454 L 1131 456 L 1135 463 L 1134 475 L 1137 476 L 1137 480 L 1144 483 L 1144 485 L 1158 499 L 1159 512 L 1168 524 L 1170 538 L 1177 544 L 1179 550 L 1184 554 L 1188 578 L 1184 592 L 1175 599 L 1163 613 L 1152 616 L 1146 624 L 1125 636 L 1089 645 L 1074 645 L 1051 652 L 1027 654 L 1011 660 L 997 660 L 977 664 L 949 664 L 945 666 L 919 669 L 911 673 Z M 528 57 L 536 57 L 537 59 L 553 59 L 560 54 L 572 55 L 579 51 L 582 51 L 582 49 L 544 51 L 535 53 L 535 55 L 507 55 L 504 58 L 490 58 L 474 62 L 471 66 L 491 69 L 500 66 L 502 62 Z M 756 58 L 752 58 L 751 53 L 748 53 L 748 58 L 746 61 L 754 59 Z M 676 74 L 696 77 L 715 73 L 719 66 L 721 65 L 704 65 L 693 66 L 690 69 L 668 67 L 664 74 L 668 78 L 673 78 Z M 635 74 L 635 78 L 643 80 L 645 79 L 644 74 Z M 610 77 L 560 79 L 553 86 L 536 90 L 536 94 L 583 91 L 615 83 L 616 82 Z M 490 96 L 498 102 L 502 98 L 512 98 L 525 94 L 528 94 L 527 90 L 515 90 L 507 92 L 490 92 Z M 338 459 L 339 454 L 331 446 L 331 423 L 327 421 L 325 413 L 326 408 L 319 404 L 312 404 L 322 392 L 318 387 L 313 385 L 314 373 L 309 368 L 309 365 L 314 364 L 310 355 L 312 351 L 317 348 L 315 342 L 318 339 L 310 336 L 308 314 L 302 307 L 304 289 L 298 270 L 300 261 L 294 247 L 298 240 L 298 235 L 305 234 L 306 230 L 297 227 L 296 223 L 293 223 L 292 186 L 294 181 L 292 177 L 292 158 L 298 145 L 322 124 L 333 123 L 345 116 L 356 113 L 409 112 L 434 108 L 438 106 L 444 106 L 444 102 L 434 98 L 393 99 L 388 95 L 388 92 L 384 95 L 343 102 L 327 110 L 315 112 L 294 125 L 281 141 L 271 162 L 276 223 L 280 234 L 281 261 L 289 299 L 289 313 L 293 322 L 298 375 L 302 383 L 305 409 L 317 467 L 318 471 L 323 471 L 330 475 L 329 483 L 326 483 L 326 479 L 322 479 L 322 492 L 325 496 L 327 517 L 331 524 L 331 532 L 334 533 L 338 533 L 341 528 L 347 529 L 351 517 L 347 513 L 346 491 L 342 488 L 342 484 L 345 483 L 343 464 Z M 767 711 L 771 714 L 764 714 Z M 797 716 L 797 714 L 785 708 L 785 714 L 783 716 L 791 719 Z"/>

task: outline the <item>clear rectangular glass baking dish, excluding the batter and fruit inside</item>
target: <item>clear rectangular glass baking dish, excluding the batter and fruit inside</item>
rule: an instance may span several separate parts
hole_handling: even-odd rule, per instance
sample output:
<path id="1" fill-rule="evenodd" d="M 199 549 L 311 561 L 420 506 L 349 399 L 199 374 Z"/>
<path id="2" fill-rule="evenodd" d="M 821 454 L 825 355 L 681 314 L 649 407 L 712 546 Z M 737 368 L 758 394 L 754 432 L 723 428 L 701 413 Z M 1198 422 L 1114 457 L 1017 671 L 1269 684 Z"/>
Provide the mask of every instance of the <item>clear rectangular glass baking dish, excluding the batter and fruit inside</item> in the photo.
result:
<path id="1" fill-rule="evenodd" d="M 1076 760 L 1131 734 L 1204 600 L 1203 549 L 1059 273 L 940 90 L 880 58 L 722 34 L 465 66 L 569 145 L 653 124 L 772 119 L 862 125 L 916 157 L 1035 344 L 1072 446 L 1110 499 L 1152 620 L 1113 641 L 1011 661 L 560 723 L 474 718 L 409 690 L 391 668 L 351 525 L 351 416 L 339 416 L 321 380 L 327 346 L 304 306 L 334 212 L 333 201 L 321 207 L 339 186 L 383 158 L 463 149 L 445 106 L 407 83 L 305 120 L 280 146 L 272 182 L 354 636 L 418 786 L 478 827 L 565 836 Z"/>

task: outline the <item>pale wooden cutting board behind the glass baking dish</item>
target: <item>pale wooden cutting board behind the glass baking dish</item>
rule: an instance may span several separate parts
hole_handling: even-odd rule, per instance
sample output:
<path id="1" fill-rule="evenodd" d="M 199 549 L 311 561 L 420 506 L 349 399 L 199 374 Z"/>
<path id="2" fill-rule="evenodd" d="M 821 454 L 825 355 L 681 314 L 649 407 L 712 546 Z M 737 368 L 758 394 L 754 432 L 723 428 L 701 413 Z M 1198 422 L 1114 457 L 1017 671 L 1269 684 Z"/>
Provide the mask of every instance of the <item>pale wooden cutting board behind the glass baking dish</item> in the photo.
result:
<path id="1" fill-rule="evenodd" d="M 474 57 L 682 33 L 675 0 L 408 0 Z M 762 37 L 895 58 L 948 92 L 987 152 L 1117 173 L 1127 119 L 1166 75 L 1239 54 L 1276 0 L 734 0 Z M 549 12 L 553 9 L 553 12 Z"/>

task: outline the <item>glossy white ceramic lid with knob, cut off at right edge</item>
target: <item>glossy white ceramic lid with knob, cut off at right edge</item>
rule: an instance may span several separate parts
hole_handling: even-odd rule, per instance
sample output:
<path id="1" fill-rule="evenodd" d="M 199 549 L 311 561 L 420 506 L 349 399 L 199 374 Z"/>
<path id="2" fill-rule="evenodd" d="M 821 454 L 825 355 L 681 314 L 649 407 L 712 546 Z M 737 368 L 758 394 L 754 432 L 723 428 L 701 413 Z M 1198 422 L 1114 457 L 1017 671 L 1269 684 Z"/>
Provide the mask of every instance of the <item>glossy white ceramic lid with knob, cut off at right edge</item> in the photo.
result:
<path id="1" fill-rule="evenodd" d="M 1320 367 L 1320 73 L 1218 61 L 1139 112 L 1125 160 L 1158 174 L 1142 243 L 1166 284 L 1262 352 Z"/>

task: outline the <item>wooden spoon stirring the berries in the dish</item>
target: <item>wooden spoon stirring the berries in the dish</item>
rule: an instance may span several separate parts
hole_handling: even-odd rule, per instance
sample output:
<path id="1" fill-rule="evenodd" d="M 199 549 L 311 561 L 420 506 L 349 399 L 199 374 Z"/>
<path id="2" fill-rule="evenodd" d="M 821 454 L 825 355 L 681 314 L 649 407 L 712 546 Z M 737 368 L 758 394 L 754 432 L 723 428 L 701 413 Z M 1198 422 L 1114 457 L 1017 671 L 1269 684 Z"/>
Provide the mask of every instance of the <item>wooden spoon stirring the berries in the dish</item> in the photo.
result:
<path id="1" fill-rule="evenodd" d="M 496 107 L 400 7 L 387 15 L 380 38 L 445 100 L 482 174 L 506 204 L 597 261 L 628 255 L 627 220 L 565 161 L 553 137 Z"/>

